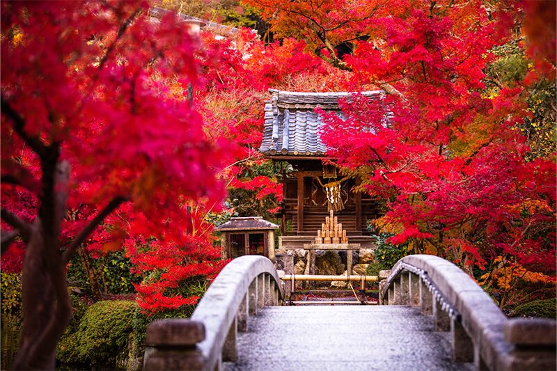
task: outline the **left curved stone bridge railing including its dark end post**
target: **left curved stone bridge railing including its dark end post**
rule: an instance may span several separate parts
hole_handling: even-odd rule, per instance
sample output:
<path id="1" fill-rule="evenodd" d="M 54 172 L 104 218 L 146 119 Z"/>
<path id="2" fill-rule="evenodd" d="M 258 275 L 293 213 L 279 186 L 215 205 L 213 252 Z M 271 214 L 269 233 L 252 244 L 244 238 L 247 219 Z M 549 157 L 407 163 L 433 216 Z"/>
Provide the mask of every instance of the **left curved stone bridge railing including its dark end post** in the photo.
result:
<path id="1" fill-rule="evenodd" d="M 228 263 L 199 301 L 191 319 L 152 322 L 146 333 L 145 370 L 221 370 L 236 361 L 237 331 L 249 315 L 283 299 L 271 260 L 245 255 Z"/>

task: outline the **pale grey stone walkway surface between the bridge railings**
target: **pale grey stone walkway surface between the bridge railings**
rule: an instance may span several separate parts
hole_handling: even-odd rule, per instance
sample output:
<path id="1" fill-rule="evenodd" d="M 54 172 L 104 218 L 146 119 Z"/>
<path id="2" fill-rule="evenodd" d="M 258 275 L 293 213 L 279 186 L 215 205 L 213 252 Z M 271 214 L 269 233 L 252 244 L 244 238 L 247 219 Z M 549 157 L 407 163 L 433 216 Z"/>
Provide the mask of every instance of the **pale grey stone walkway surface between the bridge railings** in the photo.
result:
<path id="1" fill-rule="evenodd" d="M 448 333 L 407 306 L 282 306 L 238 333 L 228 371 L 473 370 L 453 363 Z"/>

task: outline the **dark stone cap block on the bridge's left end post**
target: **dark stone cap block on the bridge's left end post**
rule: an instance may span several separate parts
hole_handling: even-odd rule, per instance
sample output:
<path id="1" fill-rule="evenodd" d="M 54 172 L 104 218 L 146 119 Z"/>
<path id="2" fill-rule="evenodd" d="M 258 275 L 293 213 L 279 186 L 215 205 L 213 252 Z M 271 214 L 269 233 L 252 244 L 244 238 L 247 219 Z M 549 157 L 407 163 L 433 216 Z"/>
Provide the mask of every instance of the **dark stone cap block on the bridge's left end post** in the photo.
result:
<path id="1" fill-rule="evenodd" d="M 193 346 L 205 340 L 205 326 L 191 319 L 159 319 L 151 322 L 146 345 L 157 347 Z"/>

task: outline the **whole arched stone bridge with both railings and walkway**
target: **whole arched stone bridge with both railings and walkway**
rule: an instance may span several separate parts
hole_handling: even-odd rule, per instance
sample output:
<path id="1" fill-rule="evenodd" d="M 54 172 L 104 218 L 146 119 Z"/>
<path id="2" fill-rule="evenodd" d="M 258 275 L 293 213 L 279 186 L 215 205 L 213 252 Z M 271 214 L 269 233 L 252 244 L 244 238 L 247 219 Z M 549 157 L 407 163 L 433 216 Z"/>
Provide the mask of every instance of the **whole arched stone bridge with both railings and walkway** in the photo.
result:
<path id="1" fill-rule="evenodd" d="M 409 255 L 378 306 L 281 306 L 260 256 L 230 262 L 191 319 L 150 324 L 146 370 L 556 370 L 556 322 L 507 319 L 452 263 Z"/>

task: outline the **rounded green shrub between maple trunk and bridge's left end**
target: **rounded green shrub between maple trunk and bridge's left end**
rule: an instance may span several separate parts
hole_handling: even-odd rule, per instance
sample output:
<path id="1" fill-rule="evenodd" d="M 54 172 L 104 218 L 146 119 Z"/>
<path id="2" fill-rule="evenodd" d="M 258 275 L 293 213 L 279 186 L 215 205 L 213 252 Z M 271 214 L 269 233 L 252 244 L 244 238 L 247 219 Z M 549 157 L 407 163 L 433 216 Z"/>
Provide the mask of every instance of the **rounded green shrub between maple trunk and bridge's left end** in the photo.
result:
<path id="1" fill-rule="evenodd" d="M 56 358 L 64 363 L 114 365 L 127 347 L 137 305 L 134 301 L 97 301 L 88 307 L 76 332 L 66 331 Z"/>

